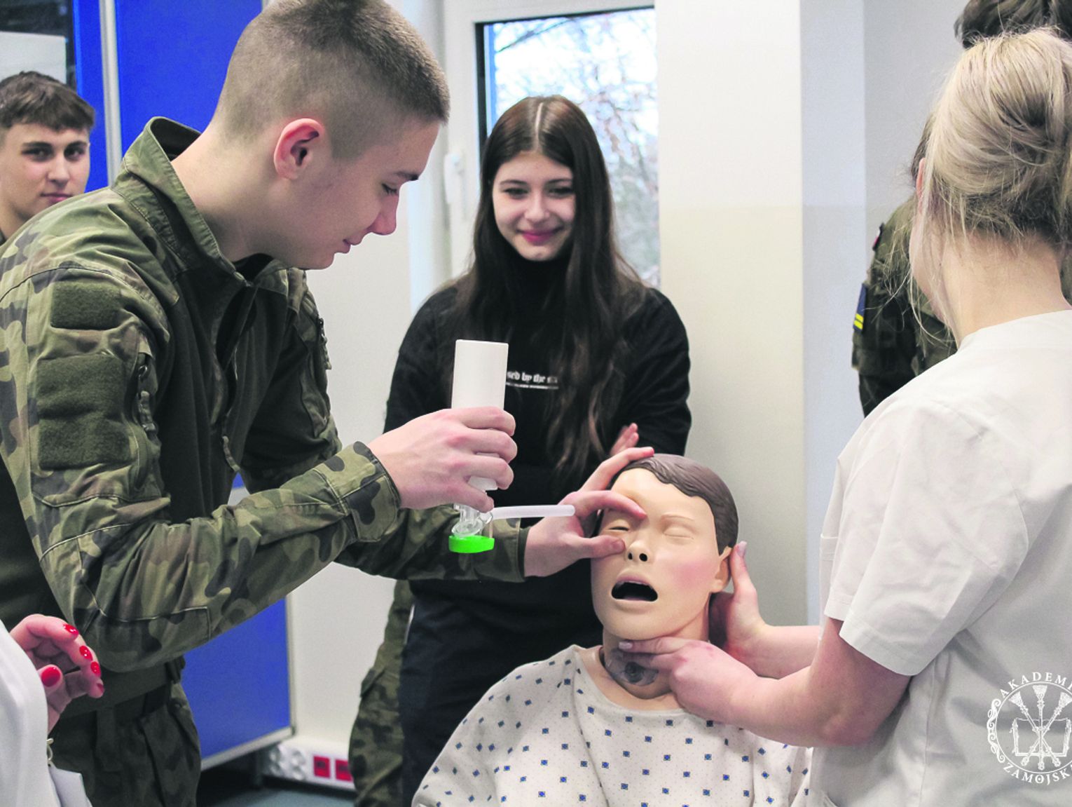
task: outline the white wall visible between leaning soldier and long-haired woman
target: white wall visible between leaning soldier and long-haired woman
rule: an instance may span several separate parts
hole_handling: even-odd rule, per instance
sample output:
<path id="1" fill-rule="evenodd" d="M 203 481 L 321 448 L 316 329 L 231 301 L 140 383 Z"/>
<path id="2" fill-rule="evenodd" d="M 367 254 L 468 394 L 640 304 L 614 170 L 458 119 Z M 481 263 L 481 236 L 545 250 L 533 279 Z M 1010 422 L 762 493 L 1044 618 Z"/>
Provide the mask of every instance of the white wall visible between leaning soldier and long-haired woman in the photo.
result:
<path id="1" fill-rule="evenodd" d="M 442 54 L 440 3 L 392 2 Z M 437 144 L 421 179 L 402 191 L 398 231 L 369 236 L 330 268 L 310 273 L 331 357 L 331 410 L 344 443 L 368 442 L 383 432 L 399 344 L 416 306 L 447 277 L 442 196 Z M 392 586 L 333 566 L 291 595 L 295 720 L 303 738 L 342 748 L 348 743 L 358 688 L 379 645 Z"/>

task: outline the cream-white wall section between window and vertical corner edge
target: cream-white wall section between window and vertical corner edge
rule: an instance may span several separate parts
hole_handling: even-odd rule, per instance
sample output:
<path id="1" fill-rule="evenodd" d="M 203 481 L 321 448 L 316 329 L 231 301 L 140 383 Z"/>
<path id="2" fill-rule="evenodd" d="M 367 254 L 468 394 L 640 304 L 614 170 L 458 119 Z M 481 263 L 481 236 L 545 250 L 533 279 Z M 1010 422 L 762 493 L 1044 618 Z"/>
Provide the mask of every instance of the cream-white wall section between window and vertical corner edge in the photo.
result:
<path id="1" fill-rule="evenodd" d="M 656 5 L 659 237 L 689 334 L 688 453 L 733 490 L 764 616 L 787 622 L 805 602 L 800 8 L 763 10 Z"/>

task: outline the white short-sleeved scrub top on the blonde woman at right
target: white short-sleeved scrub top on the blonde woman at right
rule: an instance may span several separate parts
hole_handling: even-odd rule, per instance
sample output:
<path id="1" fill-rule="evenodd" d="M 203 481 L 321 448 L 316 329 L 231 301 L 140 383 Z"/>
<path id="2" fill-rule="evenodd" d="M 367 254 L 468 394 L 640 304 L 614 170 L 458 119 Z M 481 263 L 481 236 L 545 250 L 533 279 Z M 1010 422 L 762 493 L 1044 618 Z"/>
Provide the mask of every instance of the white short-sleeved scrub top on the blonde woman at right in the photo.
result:
<path id="1" fill-rule="evenodd" d="M 873 739 L 816 749 L 837 807 L 1072 805 L 1072 311 L 969 335 L 838 457 L 825 616 L 913 676 Z"/>

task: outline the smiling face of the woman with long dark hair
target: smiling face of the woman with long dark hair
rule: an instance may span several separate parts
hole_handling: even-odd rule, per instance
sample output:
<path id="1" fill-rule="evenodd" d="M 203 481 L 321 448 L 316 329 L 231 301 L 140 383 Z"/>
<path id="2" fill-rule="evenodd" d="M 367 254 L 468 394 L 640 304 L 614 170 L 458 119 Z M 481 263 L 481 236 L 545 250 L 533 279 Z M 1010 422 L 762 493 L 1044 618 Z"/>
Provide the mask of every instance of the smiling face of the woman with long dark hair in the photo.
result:
<path id="1" fill-rule="evenodd" d="M 574 233 L 574 172 L 535 151 L 498 166 L 491 186 L 498 232 L 522 258 L 557 258 Z"/>

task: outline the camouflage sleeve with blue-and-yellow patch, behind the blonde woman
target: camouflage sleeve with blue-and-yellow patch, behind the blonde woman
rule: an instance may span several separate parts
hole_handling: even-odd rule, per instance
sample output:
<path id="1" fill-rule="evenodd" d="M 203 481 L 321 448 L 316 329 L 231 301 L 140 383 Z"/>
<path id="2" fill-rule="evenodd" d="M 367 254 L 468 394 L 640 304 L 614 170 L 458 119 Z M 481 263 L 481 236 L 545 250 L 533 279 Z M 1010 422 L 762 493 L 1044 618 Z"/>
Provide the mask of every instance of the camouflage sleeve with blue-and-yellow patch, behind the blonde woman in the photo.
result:
<path id="1" fill-rule="evenodd" d="M 911 203 L 906 202 L 880 228 L 860 290 L 852 327 L 852 367 L 860 375 L 860 404 L 865 415 L 914 376 L 915 320 L 907 295 L 911 211 Z"/>

